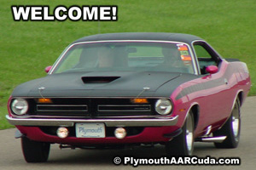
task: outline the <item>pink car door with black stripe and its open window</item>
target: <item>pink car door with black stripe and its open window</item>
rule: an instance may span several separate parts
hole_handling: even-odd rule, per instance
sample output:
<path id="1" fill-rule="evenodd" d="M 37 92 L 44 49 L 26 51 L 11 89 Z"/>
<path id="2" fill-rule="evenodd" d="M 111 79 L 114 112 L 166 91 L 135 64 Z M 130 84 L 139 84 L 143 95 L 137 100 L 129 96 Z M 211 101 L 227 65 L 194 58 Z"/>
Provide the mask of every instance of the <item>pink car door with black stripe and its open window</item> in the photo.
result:
<path id="1" fill-rule="evenodd" d="M 226 63 L 219 54 L 211 48 L 207 42 L 197 41 L 193 43 L 197 67 L 199 70 L 201 92 L 198 96 L 202 128 L 216 127 L 219 122 L 224 122 L 231 105 L 229 96 L 229 84 L 224 77 Z M 206 68 L 208 65 L 216 65 L 218 72 L 210 75 Z"/>

